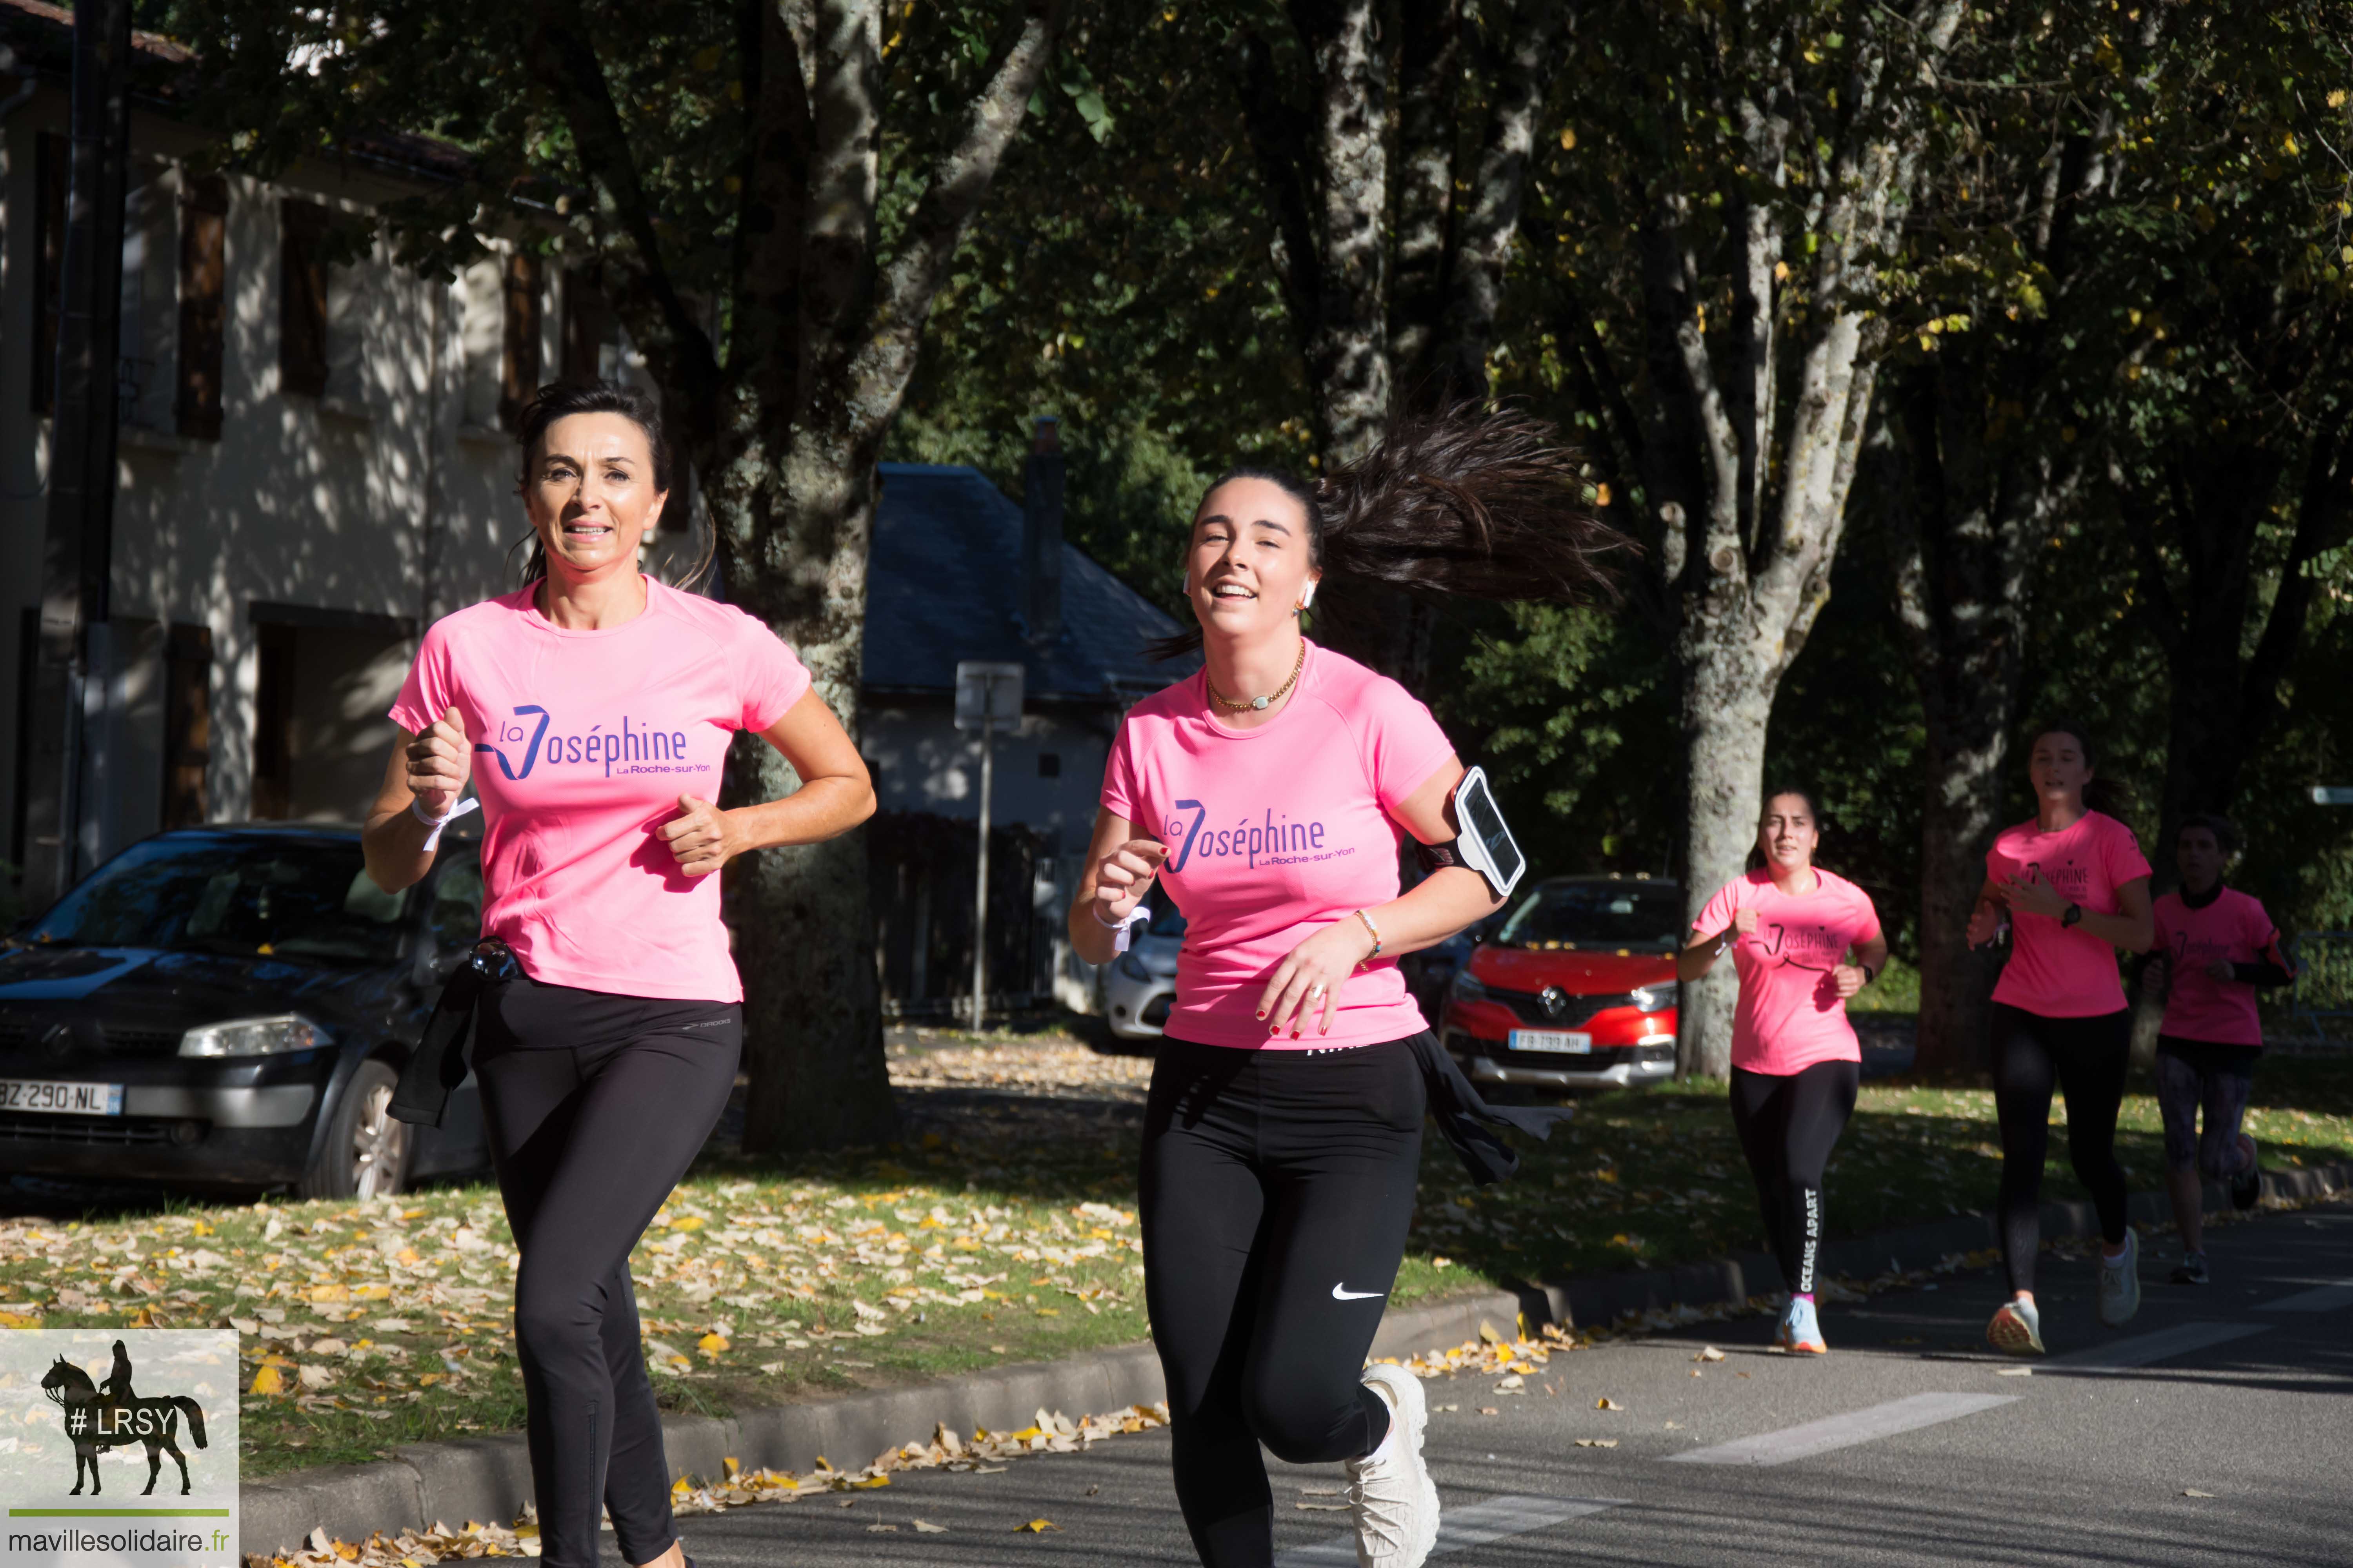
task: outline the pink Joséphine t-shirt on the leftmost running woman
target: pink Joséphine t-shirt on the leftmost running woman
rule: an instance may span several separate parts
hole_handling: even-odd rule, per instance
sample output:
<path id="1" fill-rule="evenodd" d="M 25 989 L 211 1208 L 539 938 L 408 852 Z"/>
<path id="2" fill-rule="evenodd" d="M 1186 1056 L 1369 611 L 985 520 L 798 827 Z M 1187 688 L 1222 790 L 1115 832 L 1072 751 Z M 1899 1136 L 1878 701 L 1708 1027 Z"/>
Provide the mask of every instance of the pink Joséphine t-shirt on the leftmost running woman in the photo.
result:
<path id="1" fill-rule="evenodd" d="M 656 827 L 678 797 L 718 799 L 739 729 L 767 729 L 809 689 L 774 632 L 647 578 L 645 614 L 565 630 L 534 588 L 435 621 L 393 722 L 456 708 L 482 797 L 482 933 L 548 985 L 739 1001 L 720 879 L 687 877 Z"/>

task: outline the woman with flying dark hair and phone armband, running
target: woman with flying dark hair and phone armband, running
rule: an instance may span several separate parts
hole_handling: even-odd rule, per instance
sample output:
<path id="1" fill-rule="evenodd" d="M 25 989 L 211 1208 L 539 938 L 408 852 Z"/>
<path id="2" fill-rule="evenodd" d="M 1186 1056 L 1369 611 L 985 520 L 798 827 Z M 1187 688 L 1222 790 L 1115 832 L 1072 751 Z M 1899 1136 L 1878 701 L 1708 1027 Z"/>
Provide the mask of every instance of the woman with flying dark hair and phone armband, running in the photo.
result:
<path id="1" fill-rule="evenodd" d="M 1508 1119 L 1445 1077 L 1395 966 L 1497 907 L 1452 849 L 1398 893 L 1402 835 L 1457 839 L 1464 766 L 1419 701 L 1308 642 L 1299 611 L 1325 578 L 1574 597 L 1614 543 L 1579 489 L 1546 425 L 1475 411 L 1400 425 L 1315 484 L 1224 475 L 1186 550 L 1205 668 L 1132 708 L 1113 743 L 1071 940 L 1111 961 L 1153 882 L 1186 914 L 1141 1222 L 1176 1500 L 1209 1568 L 1273 1561 L 1261 1443 L 1346 1465 L 1360 1563 L 1431 1552 L 1421 1385 L 1365 1354 L 1433 1088 L 1459 1150 L 1464 1114 Z"/>

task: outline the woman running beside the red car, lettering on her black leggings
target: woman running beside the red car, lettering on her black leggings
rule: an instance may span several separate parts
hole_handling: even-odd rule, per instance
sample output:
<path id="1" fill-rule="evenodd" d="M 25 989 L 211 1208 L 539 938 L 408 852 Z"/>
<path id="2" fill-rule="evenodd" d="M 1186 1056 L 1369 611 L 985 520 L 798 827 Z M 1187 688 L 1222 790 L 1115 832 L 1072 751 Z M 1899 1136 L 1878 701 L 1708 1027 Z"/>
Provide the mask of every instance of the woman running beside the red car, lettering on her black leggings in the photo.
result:
<path id="1" fill-rule="evenodd" d="M 1788 1286 L 1774 1342 L 1817 1356 L 1831 1349 L 1814 1312 L 1821 1168 L 1847 1131 L 1864 1070 L 1847 999 L 1887 966 L 1887 938 L 1871 896 L 1814 865 L 1819 844 L 1821 813 L 1809 792 L 1767 795 L 1748 872 L 1715 891 L 1692 924 L 1699 940 L 1675 959 L 1682 983 L 1715 969 L 1727 950 L 1739 971 L 1732 1126 Z"/>

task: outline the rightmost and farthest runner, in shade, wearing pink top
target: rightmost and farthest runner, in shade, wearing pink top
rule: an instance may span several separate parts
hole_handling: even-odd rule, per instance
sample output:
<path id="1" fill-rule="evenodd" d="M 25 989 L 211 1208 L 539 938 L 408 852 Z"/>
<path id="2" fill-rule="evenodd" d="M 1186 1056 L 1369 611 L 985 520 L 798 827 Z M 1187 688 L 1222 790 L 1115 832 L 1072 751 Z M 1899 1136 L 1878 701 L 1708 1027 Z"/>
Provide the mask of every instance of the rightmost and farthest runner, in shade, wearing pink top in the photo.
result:
<path id="1" fill-rule="evenodd" d="M 2280 933 L 2249 893 L 2224 886 L 2238 858 L 2238 830 L 2219 816 L 2184 818 L 2174 837 L 2181 889 L 2155 905 L 2165 971 L 2165 1023 L 2158 1032 L 2158 1110 L 2165 1112 L 2165 1190 L 2181 1229 L 2177 1286 L 2202 1286 L 2205 1180 L 2231 1182 L 2231 1206 L 2254 1208 L 2264 1171 L 2254 1138 L 2238 1131 L 2264 1053 L 2254 992 L 2294 976 L 2280 957 Z M 2205 1131 L 2198 1110 L 2205 1107 Z"/>

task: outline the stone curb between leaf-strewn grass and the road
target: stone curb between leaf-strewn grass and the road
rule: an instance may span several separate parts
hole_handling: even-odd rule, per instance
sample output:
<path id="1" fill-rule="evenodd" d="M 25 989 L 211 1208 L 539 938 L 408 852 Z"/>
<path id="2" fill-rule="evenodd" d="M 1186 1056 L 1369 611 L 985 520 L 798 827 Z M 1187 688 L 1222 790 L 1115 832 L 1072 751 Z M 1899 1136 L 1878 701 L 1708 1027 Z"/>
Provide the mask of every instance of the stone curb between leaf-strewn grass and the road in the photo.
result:
<path id="1" fill-rule="evenodd" d="M 2264 1175 L 2264 1194 L 2278 1199 L 2315 1199 L 2348 1187 L 2353 1187 L 2353 1164 Z M 2205 1192 L 2209 1211 L 2228 1208 L 2221 1185 L 2209 1185 Z M 2162 1222 L 2167 1215 L 2162 1194 L 2134 1194 L 2134 1220 Z M 2045 1237 L 2097 1232 L 2099 1220 L 2089 1204 L 2042 1206 Z M 1955 1215 L 1831 1241 L 1821 1248 L 1821 1269 L 1833 1276 L 1904 1272 L 1993 1244 L 1991 1215 Z M 1372 1338 L 1372 1354 L 1402 1359 L 1433 1345 L 1452 1349 L 1475 1340 L 1482 1321 L 1506 1328 L 1522 1314 L 1529 1328 L 1544 1321 L 1600 1326 L 1626 1312 L 1744 1302 L 1748 1295 L 1779 1288 L 1781 1269 L 1772 1258 L 1739 1253 L 1671 1269 L 1480 1291 L 1386 1314 Z M 1160 1356 L 1151 1345 L 1129 1345 L 899 1389 L 767 1406 L 718 1420 L 668 1415 L 661 1422 L 661 1441 L 675 1476 L 715 1476 L 729 1458 L 746 1469 L 807 1472 L 821 1453 L 838 1465 L 864 1465 L 887 1448 L 927 1439 L 934 1422 L 958 1432 L 1009 1429 L 1026 1425 L 1040 1406 L 1108 1413 L 1165 1396 Z M 322 1465 L 247 1481 L 238 1507 L 240 1552 L 287 1552 L 313 1528 L 325 1528 L 334 1540 L 365 1540 L 376 1530 L 424 1530 L 435 1521 L 504 1523 L 532 1497 L 532 1455 L 520 1434 L 407 1443 L 393 1453 L 398 1458 L 369 1465 Z"/>

